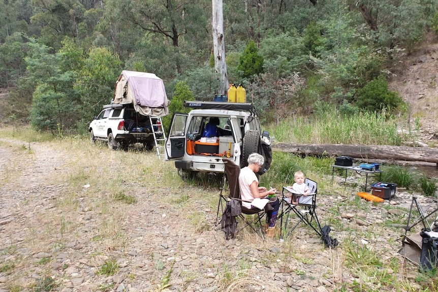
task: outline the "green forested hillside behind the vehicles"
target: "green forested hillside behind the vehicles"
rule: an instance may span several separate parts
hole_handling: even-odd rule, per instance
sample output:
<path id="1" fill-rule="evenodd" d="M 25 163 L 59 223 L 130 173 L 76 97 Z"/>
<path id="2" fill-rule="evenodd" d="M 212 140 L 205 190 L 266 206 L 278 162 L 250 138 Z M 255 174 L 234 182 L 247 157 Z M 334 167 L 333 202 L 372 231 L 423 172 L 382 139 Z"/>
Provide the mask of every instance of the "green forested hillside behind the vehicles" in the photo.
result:
<path id="1" fill-rule="evenodd" d="M 388 88 L 400 60 L 436 38 L 438 0 L 225 1 L 230 83 L 279 120 L 334 104 L 406 111 Z M 0 0 L 0 118 L 64 133 L 111 101 L 121 70 L 151 72 L 212 100 L 212 3 Z"/>

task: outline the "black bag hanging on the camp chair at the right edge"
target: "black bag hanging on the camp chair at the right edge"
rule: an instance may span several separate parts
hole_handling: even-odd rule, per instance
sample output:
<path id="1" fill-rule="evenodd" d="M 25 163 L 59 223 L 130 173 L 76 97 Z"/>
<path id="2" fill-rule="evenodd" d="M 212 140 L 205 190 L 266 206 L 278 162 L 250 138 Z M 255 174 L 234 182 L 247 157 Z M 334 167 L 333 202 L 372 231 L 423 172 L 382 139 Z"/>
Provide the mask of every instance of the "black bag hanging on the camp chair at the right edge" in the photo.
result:
<path id="1" fill-rule="evenodd" d="M 427 229 L 421 231 L 420 236 L 423 238 L 420 255 L 420 269 L 423 271 L 430 271 L 438 268 L 438 233 L 431 232 Z"/>

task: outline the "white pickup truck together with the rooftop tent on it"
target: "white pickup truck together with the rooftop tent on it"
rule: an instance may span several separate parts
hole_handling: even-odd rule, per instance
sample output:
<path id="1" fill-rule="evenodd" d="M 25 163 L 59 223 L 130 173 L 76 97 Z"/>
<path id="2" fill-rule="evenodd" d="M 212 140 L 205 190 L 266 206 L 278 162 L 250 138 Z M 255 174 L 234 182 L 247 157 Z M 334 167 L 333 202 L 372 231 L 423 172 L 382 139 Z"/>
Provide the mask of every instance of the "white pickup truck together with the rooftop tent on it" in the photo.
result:
<path id="1" fill-rule="evenodd" d="M 142 143 L 152 150 L 154 134 L 158 140 L 164 134 L 160 117 L 168 114 L 169 101 L 155 74 L 123 70 L 112 103 L 103 108 L 88 126 L 91 141 L 105 141 L 110 149 Z"/>

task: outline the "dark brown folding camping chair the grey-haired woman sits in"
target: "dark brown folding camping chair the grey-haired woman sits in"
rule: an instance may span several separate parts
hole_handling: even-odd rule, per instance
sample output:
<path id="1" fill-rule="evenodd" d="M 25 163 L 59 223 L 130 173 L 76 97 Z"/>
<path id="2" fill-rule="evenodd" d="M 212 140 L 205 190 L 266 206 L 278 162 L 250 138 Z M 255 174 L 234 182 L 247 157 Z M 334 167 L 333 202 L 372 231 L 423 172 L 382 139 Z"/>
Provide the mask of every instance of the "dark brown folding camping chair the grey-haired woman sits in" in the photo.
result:
<path id="1" fill-rule="evenodd" d="M 223 158 L 222 161 L 224 161 L 224 166 L 225 166 L 225 178 L 224 178 L 224 185 L 221 188 L 221 193 L 219 195 L 220 196 L 219 203 L 217 204 L 216 224 L 218 223 L 217 219 L 219 216 L 219 211 L 221 210 L 221 214 L 224 212 L 223 204 L 230 200 L 237 200 L 239 201 L 242 210 L 242 213 L 238 215 L 238 218 L 240 219 L 238 221 L 241 221 L 244 225 L 241 228 L 237 229 L 236 234 L 242 231 L 246 226 L 249 226 L 249 228 L 251 228 L 255 233 L 259 234 L 264 240 L 265 238 L 264 238 L 264 231 L 262 226 L 262 219 L 263 216 L 265 215 L 264 210 L 257 208 L 248 209 L 242 206 L 243 201 L 241 200 L 240 197 L 240 186 L 239 186 L 240 168 L 231 159 Z M 227 182 L 228 182 L 230 193 L 228 197 L 225 197 L 224 190 L 226 189 Z M 251 220 L 248 220 L 244 215 L 255 215 L 255 216 L 253 216 Z M 257 225 L 259 226 L 259 228 L 257 228 Z"/>

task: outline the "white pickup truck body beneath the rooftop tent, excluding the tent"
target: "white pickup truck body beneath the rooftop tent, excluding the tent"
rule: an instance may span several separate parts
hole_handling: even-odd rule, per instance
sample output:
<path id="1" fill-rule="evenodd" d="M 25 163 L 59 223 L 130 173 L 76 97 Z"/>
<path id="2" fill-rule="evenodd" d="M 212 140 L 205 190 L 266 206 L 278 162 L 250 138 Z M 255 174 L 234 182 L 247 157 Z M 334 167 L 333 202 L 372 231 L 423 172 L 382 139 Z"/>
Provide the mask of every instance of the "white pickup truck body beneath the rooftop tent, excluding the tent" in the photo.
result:
<path id="1" fill-rule="evenodd" d="M 157 119 L 152 117 L 152 124 L 157 124 Z M 161 131 L 158 128 L 154 130 Z M 142 143 L 150 151 L 155 146 L 149 117 L 137 113 L 132 105 L 104 106 L 104 110 L 89 124 L 88 131 L 92 142 L 107 142 L 110 149 L 127 148 L 130 144 Z"/>

